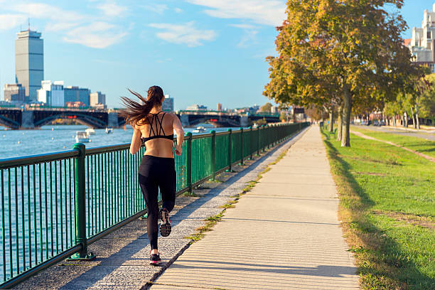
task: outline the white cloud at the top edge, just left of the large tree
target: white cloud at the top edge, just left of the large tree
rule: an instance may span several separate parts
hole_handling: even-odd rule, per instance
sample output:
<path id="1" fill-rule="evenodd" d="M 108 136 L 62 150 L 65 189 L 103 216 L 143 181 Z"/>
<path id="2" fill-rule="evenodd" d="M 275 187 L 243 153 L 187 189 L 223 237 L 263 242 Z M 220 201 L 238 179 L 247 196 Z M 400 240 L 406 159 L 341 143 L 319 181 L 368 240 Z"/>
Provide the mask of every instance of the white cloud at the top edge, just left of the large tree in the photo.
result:
<path id="1" fill-rule="evenodd" d="M 206 6 L 205 13 L 218 18 L 250 19 L 255 23 L 280 26 L 286 18 L 286 3 L 280 0 L 186 0 Z"/>

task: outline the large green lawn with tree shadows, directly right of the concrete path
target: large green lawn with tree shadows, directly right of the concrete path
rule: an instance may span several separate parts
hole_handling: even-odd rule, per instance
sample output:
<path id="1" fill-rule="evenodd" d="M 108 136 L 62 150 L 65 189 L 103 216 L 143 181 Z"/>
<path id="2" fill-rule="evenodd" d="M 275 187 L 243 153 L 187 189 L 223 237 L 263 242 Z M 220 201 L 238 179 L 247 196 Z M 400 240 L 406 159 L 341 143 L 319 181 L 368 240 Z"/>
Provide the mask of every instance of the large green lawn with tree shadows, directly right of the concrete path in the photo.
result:
<path id="1" fill-rule="evenodd" d="M 363 289 L 435 289 L 435 163 L 354 134 L 344 148 L 322 134 Z"/>

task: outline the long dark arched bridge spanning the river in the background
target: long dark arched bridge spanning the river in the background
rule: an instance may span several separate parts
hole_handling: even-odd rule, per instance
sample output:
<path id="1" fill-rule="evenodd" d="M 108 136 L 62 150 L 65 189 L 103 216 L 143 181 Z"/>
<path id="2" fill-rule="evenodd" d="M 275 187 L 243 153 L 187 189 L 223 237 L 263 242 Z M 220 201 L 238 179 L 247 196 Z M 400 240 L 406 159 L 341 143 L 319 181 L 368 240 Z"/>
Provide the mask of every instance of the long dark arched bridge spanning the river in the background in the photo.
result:
<path id="1" fill-rule="evenodd" d="M 222 112 L 179 112 L 178 117 L 184 127 L 200 123 L 213 124 L 215 127 L 246 127 L 251 122 L 264 119 L 267 123 L 279 122 L 279 114 L 225 114 Z M 63 108 L 0 108 L 0 125 L 10 129 L 33 129 L 50 124 L 55 119 L 74 119 L 80 124 L 92 128 L 121 127 L 125 120 L 118 112 L 90 109 Z"/>

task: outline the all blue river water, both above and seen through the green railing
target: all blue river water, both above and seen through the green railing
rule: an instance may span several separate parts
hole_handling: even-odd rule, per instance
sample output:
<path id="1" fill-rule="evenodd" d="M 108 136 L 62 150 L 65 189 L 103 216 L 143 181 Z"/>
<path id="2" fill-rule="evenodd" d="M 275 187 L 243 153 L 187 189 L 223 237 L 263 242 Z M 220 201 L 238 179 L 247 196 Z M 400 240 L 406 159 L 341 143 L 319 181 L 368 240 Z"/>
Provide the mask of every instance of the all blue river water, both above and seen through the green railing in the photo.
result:
<path id="1" fill-rule="evenodd" d="M 210 124 L 202 125 L 207 131 L 227 130 L 213 128 Z M 81 125 L 51 125 L 34 130 L 9 130 L 0 127 L 0 159 L 72 149 L 76 131 L 85 131 L 86 128 Z M 193 129 L 195 128 L 185 128 L 185 131 Z M 95 134 L 90 136 L 90 143 L 85 145 L 86 148 L 92 148 L 129 143 L 132 134 L 131 127 L 127 127 L 126 130 L 114 129 L 112 134 L 107 134 L 105 129 L 95 129 Z M 114 161 L 104 160 L 101 164 L 104 164 L 104 168 L 114 168 L 114 176 L 122 175 L 124 170 L 115 168 L 112 162 Z M 100 170 L 100 161 L 97 166 Z M 44 164 L 42 167 L 25 166 L 0 171 L 0 284 L 18 272 L 53 257 L 55 252 L 59 252 L 58 247 L 62 250 L 74 245 L 73 169 L 72 162 L 60 161 Z M 89 170 L 91 179 L 93 175 L 97 176 L 97 167 L 92 167 L 92 159 Z M 99 210 L 100 214 L 116 211 L 116 203 L 108 203 L 107 200 L 104 203 L 104 199 L 101 198 L 107 190 L 102 189 L 105 183 L 100 183 L 95 181 L 87 184 L 87 227 L 88 230 L 92 229 L 92 232 L 98 230 Z M 133 190 L 134 195 L 126 188 L 125 185 L 124 188 L 118 188 L 115 199 L 133 200 L 131 203 L 136 206 L 143 203 L 138 188 Z M 115 196 L 114 193 L 112 195 Z M 124 218 L 127 218 L 127 215 Z"/>

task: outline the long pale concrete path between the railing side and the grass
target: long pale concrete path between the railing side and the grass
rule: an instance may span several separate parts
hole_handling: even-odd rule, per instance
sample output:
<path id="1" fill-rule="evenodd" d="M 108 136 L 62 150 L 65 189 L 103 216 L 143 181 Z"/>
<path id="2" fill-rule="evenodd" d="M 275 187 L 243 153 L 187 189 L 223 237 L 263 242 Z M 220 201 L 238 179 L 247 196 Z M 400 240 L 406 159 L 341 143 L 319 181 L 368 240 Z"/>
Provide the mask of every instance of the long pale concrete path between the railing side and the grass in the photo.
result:
<path id="1" fill-rule="evenodd" d="M 151 289 L 359 289 L 318 127 Z"/>

